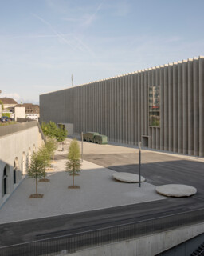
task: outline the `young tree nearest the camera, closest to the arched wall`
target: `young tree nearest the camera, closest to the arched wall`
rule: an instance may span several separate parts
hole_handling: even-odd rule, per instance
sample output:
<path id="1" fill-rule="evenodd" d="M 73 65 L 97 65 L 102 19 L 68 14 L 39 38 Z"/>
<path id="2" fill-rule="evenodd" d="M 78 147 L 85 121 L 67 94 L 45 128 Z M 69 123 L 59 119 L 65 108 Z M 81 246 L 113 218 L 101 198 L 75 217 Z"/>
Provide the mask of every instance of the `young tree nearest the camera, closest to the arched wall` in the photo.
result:
<path id="1" fill-rule="evenodd" d="M 30 165 L 28 168 L 29 178 L 35 178 L 35 194 L 31 194 L 31 198 L 42 198 L 43 194 L 37 194 L 37 180 L 44 176 L 44 163 L 38 152 L 33 152 Z"/>

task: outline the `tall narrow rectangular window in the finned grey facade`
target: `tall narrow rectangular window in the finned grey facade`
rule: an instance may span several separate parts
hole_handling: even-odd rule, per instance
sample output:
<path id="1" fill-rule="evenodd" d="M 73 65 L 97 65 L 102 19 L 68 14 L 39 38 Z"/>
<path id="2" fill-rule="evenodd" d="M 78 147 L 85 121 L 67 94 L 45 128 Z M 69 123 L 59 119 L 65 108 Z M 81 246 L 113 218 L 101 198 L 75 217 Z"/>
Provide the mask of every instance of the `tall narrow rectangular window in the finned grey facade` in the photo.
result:
<path id="1" fill-rule="evenodd" d="M 149 126 L 160 126 L 160 86 L 149 86 Z"/>

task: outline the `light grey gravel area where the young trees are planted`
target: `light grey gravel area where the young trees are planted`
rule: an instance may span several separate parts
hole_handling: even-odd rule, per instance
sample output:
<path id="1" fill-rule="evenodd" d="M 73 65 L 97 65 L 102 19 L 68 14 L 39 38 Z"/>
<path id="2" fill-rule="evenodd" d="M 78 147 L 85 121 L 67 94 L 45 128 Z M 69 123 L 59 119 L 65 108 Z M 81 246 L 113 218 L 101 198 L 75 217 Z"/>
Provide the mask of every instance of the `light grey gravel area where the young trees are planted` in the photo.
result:
<path id="1" fill-rule="evenodd" d="M 58 157 L 65 152 L 57 151 Z M 124 206 L 139 202 L 163 199 L 155 186 L 143 182 L 138 184 L 117 182 L 112 178 L 113 170 L 108 170 L 92 162 L 83 162 L 82 171 L 75 177 L 75 185 L 80 189 L 68 189 L 72 176 L 65 172 L 65 159 L 53 164 L 55 171 L 47 178 L 50 182 L 39 182 L 38 193 L 43 198 L 29 198 L 35 193 L 33 179 L 26 178 L 0 210 L 0 223 L 32 218 L 42 218 L 58 214 L 71 214 L 88 210 Z"/>

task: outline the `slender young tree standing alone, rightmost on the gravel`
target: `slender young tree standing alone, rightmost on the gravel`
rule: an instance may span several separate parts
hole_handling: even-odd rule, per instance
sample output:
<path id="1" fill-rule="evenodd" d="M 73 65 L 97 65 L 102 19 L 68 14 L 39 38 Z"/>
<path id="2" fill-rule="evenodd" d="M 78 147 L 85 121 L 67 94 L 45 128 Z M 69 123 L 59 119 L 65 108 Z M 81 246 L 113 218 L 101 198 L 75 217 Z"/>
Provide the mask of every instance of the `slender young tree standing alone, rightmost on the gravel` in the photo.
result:
<path id="1" fill-rule="evenodd" d="M 80 186 L 74 186 L 74 175 L 80 172 L 80 146 L 77 142 L 77 138 L 74 138 L 69 146 L 68 161 L 65 164 L 66 170 L 69 174 L 73 175 L 73 186 L 69 188 L 79 188 Z"/>

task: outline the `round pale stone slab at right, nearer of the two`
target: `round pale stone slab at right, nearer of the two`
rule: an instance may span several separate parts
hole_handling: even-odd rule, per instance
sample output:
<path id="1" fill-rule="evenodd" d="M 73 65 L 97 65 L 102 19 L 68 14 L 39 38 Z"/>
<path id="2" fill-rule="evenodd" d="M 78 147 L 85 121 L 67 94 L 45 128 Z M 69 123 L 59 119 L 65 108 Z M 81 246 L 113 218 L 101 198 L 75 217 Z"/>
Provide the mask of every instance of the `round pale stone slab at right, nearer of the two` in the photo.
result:
<path id="1" fill-rule="evenodd" d="M 187 186 L 182 184 L 168 184 L 158 186 L 156 188 L 157 193 L 163 194 L 167 197 L 190 197 L 190 195 L 196 194 L 197 190 L 194 186 Z"/>

